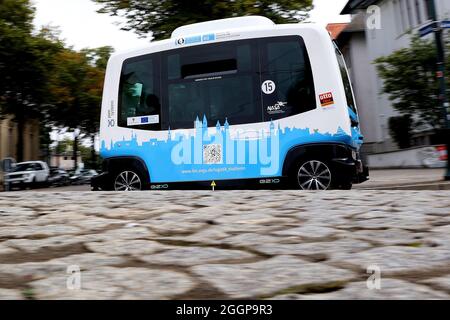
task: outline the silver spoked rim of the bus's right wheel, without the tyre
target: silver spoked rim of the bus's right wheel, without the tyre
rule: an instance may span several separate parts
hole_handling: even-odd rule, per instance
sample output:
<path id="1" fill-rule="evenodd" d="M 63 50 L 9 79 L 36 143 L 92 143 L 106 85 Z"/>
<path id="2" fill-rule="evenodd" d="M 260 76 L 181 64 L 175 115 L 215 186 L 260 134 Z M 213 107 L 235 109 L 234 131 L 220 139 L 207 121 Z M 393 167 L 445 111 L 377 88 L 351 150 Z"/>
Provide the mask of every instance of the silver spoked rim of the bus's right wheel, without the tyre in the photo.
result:
<path id="1" fill-rule="evenodd" d="M 298 185 L 303 190 L 327 190 L 330 184 L 331 171 L 323 162 L 305 162 L 298 171 Z"/>

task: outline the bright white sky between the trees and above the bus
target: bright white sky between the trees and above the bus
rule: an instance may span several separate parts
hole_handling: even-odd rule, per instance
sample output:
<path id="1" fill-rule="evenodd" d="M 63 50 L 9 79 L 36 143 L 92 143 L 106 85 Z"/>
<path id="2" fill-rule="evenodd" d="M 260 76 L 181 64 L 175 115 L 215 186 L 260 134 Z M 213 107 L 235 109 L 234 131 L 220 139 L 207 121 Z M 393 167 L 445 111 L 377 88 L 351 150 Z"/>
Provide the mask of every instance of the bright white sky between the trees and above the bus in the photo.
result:
<path id="1" fill-rule="evenodd" d="M 99 14 L 99 8 L 91 0 L 32 0 L 36 7 L 35 25 L 58 26 L 68 45 L 79 50 L 112 46 L 117 51 L 143 47 L 148 39 L 140 39 L 133 32 L 121 31 L 115 23 L 119 17 Z M 326 25 L 330 22 L 349 21 L 339 16 L 347 0 L 314 0 L 315 9 L 309 21 Z"/>

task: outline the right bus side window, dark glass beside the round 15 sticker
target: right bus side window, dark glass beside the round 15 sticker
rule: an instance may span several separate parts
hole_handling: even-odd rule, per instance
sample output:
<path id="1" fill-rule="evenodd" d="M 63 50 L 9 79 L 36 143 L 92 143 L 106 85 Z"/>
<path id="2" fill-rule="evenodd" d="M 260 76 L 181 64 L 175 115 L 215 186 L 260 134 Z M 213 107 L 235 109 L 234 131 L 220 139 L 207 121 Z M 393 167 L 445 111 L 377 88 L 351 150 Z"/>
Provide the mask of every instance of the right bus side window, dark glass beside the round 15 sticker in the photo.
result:
<path id="1" fill-rule="evenodd" d="M 277 120 L 316 108 L 314 81 L 305 43 L 299 36 L 261 40 L 264 118 Z"/>

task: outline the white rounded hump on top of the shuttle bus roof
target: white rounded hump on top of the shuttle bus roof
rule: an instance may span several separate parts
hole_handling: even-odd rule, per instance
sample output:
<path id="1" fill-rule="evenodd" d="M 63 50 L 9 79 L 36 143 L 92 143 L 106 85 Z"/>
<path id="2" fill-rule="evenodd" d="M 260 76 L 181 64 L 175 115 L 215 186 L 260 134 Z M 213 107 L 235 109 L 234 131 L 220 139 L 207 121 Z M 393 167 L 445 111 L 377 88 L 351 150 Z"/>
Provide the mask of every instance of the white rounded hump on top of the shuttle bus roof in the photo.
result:
<path id="1" fill-rule="evenodd" d="M 217 32 L 246 27 L 270 27 L 275 23 L 266 17 L 246 16 L 200 22 L 179 27 L 172 32 L 172 39 L 205 32 Z"/>

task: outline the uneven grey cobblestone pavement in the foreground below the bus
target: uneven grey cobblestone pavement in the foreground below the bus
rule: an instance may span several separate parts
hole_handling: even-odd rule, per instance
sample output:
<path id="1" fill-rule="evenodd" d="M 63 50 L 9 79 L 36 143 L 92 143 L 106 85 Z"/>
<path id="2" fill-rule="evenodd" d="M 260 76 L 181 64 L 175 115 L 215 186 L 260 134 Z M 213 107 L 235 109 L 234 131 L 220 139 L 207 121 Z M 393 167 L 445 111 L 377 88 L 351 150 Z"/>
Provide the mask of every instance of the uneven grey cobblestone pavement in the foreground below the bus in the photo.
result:
<path id="1" fill-rule="evenodd" d="M 0 298 L 450 299 L 450 192 L 2 194 Z"/>

